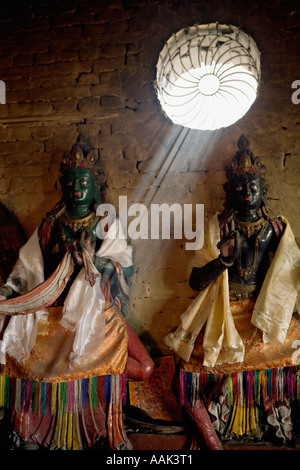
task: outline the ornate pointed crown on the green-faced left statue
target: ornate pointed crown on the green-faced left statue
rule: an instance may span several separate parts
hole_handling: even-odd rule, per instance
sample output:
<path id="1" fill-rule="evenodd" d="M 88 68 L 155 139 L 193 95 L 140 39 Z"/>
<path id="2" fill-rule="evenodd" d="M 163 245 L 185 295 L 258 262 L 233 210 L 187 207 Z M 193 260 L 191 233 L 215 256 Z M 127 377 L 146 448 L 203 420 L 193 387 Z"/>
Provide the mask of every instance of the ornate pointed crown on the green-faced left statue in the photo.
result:
<path id="1" fill-rule="evenodd" d="M 60 170 L 62 174 L 70 168 L 89 168 L 98 183 L 105 183 L 106 177 L 100 160 L 100 152 L 91 147 L 89 139 L 80 134 L 69 152 L 65 152 Z"/>

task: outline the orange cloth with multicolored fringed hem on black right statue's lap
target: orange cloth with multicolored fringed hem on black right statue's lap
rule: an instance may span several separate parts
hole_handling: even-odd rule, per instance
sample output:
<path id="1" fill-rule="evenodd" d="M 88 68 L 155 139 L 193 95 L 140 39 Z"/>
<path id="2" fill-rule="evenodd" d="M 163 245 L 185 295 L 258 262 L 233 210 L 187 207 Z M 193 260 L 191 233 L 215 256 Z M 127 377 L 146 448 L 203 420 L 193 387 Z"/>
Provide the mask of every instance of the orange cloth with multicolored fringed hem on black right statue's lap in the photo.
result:
<path id="1" fill-rule="evenodd" d="M 290 404 L 300 398 L 297 339 L 300 322 L 292 318 L 286 340 L 266 344 L 251 323 L 254 301 L 231 302 L 236 328 L 245 344 L 241 363 L 203 366 L 201 334 L 190 362 L 181 362 L 181 403 L 197 407 L 204 399 L 213 425 L 223 436 L 260 437 L 267 425 L 291 438 Z"/>

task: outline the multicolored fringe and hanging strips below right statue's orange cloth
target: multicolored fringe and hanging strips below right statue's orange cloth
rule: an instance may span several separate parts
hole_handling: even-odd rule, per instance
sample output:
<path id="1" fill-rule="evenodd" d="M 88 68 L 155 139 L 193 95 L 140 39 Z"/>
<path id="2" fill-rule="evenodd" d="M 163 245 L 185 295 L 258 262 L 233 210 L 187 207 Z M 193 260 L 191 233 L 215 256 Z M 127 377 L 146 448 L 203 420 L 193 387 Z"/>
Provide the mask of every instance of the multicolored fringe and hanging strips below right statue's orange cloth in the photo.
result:
<path id="1" fill-rule="evenodd" d="M 277 429 L 287 429 L 277 431 L 277 436 L 290 439 L 293 424 L 289 404 L 299 399 L 300 366 L 228 374 L 180 373 L 181 404 L 197 408 L 204 401 L 214 428 L 223 437 L 259 438 L 273 420 L 275 430 L 277 425 Z M 277 406 L 275 412 L 274 406 Z M 278 407 L 285 408 L 284 412 L 278 413 Z M 275 418 L 270 418 L 272 413 Z M 279 426 L 276 415 L 283 413 L 286 416 Z"/>

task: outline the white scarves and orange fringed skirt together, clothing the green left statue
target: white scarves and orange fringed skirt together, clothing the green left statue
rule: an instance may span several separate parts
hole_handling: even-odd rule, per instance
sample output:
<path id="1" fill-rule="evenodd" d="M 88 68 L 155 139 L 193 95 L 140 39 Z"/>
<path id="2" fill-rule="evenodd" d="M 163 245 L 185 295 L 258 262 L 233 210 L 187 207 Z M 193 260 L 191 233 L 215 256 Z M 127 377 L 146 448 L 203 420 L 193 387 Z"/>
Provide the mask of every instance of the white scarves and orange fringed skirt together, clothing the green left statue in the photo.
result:
<path id="1" fill-rule="evenodd" d="M 49 216 L 45 251 L 38 230 L 20 249 L 8 279 L 17 297 L 1 302 L 1 312 L 12 316 L 0 341 L 0 406 L 10 409 L 15 435 L 29 444 L 84 449 L 107 436 L 111 449 L 130 448 L 122 420 L 128 347 L 121 302 L 86 249 L 75 278 L 67 251 L 45 279 L 45 259 L 57 261 L 47 251 L 51 227 Z M 102 258 L 113 263 L 126 295 L 122 269 L 132 266 L 132 248 L 108 232 L 95 263 Z"/>

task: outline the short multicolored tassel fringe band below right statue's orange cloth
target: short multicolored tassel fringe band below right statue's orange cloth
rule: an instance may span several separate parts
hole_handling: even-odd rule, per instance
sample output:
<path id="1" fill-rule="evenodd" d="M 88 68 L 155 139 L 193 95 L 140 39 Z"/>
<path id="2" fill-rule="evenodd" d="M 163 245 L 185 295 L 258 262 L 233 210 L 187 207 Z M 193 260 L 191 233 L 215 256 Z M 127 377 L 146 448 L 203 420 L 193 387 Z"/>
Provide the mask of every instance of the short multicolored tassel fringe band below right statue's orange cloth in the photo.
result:
<path id="1" fill-rule="evenodd" d="M 300 398 L 300 366 L 232 372 L 230 374 L 180 373 L 181 404 L 197 406 L 222 383 L 229 405 L 260 404 L 267 400 Z"/>

